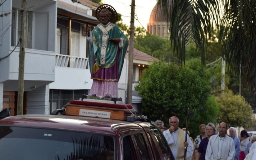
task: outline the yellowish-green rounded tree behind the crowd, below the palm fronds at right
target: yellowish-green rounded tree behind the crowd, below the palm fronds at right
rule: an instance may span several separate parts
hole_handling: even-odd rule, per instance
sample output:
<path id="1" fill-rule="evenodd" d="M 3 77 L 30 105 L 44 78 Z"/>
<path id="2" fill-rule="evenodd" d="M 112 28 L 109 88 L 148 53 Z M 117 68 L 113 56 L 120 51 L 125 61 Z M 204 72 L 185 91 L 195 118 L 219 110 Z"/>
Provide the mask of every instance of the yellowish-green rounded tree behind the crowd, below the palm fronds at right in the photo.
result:
<path id="1" fill-rule="evenodd" d="M 220 108 L 218 123 L 226 122 L 233 127 L 248 127 L 252 123 L 252 107 L 242 96 L 226 89 L 216 100 Z"/>

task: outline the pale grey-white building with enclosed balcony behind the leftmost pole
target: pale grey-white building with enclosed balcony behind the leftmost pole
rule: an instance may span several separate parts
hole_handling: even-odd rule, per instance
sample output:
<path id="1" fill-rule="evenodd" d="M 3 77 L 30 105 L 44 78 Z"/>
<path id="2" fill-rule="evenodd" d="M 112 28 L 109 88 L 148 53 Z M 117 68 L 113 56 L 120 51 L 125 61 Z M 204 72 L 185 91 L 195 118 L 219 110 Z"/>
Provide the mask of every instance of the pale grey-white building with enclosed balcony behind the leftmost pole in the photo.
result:
<path id="1" fill-rule="evenodd" d="M 0 108 L 17 111 L 22 0 L 0 6 Z M 24 113 L 48 114 L 49 83 L 55 79 L 56 0 L 27 0 Z"/>

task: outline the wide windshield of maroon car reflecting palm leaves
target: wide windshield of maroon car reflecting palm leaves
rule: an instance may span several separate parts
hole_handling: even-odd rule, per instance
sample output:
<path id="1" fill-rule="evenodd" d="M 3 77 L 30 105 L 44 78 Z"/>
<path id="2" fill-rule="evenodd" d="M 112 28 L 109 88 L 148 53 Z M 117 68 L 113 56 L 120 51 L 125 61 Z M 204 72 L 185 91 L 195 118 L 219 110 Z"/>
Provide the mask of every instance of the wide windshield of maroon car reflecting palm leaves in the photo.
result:
<path id="1" fill-rule="evenodd" d="M 1 160 L 114 160 L 114 137 L 0 126 Z"/>

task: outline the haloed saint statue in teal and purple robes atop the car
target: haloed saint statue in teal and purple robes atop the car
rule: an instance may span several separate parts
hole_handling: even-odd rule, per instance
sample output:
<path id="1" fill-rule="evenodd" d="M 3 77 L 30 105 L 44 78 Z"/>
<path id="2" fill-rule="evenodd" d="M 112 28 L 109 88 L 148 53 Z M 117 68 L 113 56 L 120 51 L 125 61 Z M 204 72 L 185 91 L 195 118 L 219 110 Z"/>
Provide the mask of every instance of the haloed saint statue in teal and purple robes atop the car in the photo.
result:
<path id="1" fill-rule="evenodd" d="M 118 81 L 122 72 L 128 38 L 114 24 L 116 10 L 108 5 L 96 9 L 101 22 L 92 31 L 87 26 L 87 46 L 91 79 L 90 96 L 118 97 Z"/>

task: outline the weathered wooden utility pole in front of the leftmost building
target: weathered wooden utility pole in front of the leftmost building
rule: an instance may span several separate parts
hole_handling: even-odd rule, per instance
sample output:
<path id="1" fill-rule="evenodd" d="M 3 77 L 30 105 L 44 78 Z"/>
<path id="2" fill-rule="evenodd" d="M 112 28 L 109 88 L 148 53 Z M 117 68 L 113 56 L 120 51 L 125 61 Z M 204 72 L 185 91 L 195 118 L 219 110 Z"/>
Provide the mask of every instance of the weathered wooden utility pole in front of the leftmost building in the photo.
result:
<path id="1" fill-rule="evenodd" d="M 19 79 L 18 79 L 17 115 L 23 114 L 27 0 L 22 0 L 21 8 L 22 10 L 21 10 L 21 27 L 20 27 L 20 39 L 19 39 L 20 46 L 19 46 Z"/>

